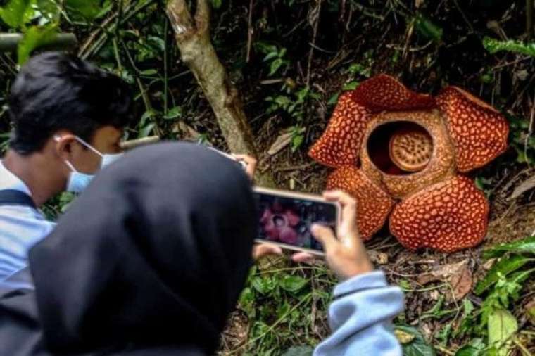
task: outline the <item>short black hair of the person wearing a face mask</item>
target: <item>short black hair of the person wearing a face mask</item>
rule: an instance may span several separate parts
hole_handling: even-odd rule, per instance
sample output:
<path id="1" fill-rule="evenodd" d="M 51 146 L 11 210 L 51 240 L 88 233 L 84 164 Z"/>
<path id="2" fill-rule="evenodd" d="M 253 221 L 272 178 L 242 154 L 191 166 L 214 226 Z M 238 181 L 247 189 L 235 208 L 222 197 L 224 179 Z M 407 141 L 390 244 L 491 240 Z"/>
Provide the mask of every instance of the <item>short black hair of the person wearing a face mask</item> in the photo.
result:
<path id="1" fill-rule="evenodd" d="M 132 96 L 119 77 L 75 56 L 46 52 L 20 70 L 8 113 L 14 127 L 11 148 L 29 155 L 60 129 L 88 142 L 103 126 L 122 129 L 133 117 Z"/>

